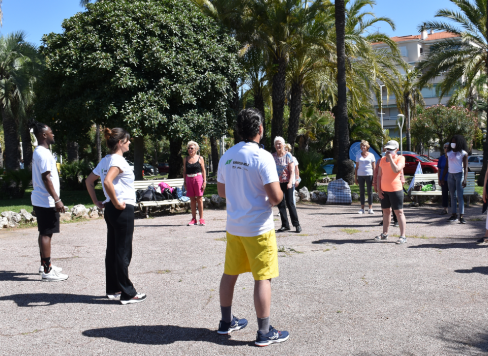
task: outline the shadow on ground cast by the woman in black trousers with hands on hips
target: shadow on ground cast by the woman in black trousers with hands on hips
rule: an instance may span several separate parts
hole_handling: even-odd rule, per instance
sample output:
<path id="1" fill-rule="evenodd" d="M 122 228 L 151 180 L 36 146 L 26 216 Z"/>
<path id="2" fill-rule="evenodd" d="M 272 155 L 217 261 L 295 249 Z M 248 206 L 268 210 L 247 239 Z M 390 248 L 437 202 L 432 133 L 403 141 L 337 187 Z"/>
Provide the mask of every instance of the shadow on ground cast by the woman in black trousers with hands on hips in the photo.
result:
<path id="1" fill-rule="evenodd" d="M 55 282 L 51 282 L 55 283 Z M 0 301 L 14 301 L 18 307 L 44 307 L 54 304 L 85 303 L 85 304 L 119 304 L 117 300 L 107 299 L 101 295 L 32 293 L 0 296 Z"/>

